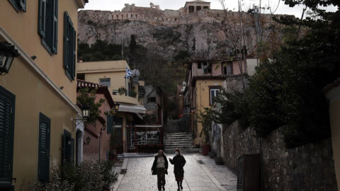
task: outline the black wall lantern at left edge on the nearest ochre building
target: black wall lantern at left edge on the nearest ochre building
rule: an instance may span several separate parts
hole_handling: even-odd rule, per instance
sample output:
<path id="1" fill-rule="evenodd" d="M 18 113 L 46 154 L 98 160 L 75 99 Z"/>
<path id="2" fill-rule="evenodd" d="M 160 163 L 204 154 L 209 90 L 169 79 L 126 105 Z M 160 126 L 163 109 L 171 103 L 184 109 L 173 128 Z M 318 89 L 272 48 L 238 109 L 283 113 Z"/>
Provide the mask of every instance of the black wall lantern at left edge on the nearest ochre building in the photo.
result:
<path id="1" fill-rule="evenodd" d="M 14 57 L 18 57 L 20 54 L 15 49 L 14 45 L 8 42 L 0 42 L 0 74 L 8 74 L 11 68 Z"/>

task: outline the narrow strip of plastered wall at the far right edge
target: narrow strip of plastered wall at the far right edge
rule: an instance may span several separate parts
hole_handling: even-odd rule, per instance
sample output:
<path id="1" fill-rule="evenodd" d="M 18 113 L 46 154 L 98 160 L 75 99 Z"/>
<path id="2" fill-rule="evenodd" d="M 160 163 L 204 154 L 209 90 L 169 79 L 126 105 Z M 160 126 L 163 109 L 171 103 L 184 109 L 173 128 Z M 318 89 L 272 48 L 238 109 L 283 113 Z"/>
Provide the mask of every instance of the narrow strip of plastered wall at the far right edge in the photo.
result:
<path id="1" fill-rule="evenodd" d="M 331 125 L 331 144 L 333 147 L 336 182 L 340 183 L 340 79 L 324 88 L 329 100 L 329 119 Z"/>

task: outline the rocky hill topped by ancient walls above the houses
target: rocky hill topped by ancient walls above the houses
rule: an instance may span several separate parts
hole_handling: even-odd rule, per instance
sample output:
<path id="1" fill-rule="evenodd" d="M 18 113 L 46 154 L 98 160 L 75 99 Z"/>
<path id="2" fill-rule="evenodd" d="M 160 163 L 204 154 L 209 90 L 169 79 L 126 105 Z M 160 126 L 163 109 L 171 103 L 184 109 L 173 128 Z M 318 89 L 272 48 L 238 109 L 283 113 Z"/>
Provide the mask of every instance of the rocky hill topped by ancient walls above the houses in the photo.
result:
<path id="1" fill-rule="evenodd" d="M 79 11 L 78 38 L 89 45 L 103 40 L 128 46 L 130 36 L 135 35 L 137 45 L 156 49 L 169 60 L 181 50 L 196 58 L 220 58 L 234 51 L 233 42 L 241 46 L 243 39 L 237 35 L 242 33 L 243 26 L 249 57 L 255 57 L 261 34 L 263 38 L 280 39 L 280 26 L 271 20 L 271 15 L 262 14 L 259 20 L 256 16 L 254 12 L 242 12 L 240 20 L 239 13 L 232 11 L 200 10 L 184 14 L 181 10 L 162 11 L 125 4 L 122 11 Z"/>

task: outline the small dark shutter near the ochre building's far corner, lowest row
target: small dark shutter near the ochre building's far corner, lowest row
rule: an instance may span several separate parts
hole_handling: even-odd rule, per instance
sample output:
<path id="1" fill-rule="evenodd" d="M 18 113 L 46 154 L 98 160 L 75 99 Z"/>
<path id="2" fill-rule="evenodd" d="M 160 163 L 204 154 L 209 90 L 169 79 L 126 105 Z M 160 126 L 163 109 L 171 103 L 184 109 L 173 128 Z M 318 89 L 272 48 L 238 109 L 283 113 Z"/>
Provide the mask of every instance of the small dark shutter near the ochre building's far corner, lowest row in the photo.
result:
<path id="1" fill-rule="evenodd" d="M 62 164 L 74 161 L 74 139 L 72 134 L 64 129 L 62 135 Z"/>

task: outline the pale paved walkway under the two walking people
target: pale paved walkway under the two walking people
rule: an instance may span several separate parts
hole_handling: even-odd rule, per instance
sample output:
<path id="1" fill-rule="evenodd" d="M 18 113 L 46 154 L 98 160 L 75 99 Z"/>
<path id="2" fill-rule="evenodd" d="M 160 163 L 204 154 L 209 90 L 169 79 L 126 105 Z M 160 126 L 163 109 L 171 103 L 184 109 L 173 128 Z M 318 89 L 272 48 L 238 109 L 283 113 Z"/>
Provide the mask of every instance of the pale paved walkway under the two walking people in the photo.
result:
<path id="1" fill-rule="evenodd" d="M 237 176 L 225 166 L 217 166 L 214 159 L 199 154 L 183 155 L 186 158 L 184 166 L 183 190 L 217 191 L 236 190 Z M 168 155 L 168 158 L 174 155 Z M 120 175 L 113 190 L 142 191 L 157 190 L 157 175 L 151 175 L 152 156 L 140 158 L 125 158 L 122 169 L 125 175 Z M 203 161 L 204 164 L 198 163 Z M 174 177 L 174 166 L 169 163 L 169 175 L 166 175 L 166 190 L 177 190 Z"/>

